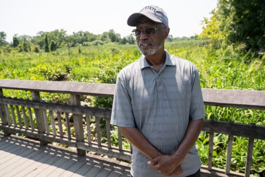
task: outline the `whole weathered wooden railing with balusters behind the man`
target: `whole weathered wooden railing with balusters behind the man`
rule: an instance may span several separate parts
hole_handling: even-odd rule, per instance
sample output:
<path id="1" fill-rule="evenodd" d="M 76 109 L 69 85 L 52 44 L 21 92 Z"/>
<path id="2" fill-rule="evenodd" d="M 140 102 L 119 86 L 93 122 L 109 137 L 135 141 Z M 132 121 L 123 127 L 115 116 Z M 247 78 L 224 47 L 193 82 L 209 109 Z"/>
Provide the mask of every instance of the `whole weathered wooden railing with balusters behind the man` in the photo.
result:
<path id="1" fill-rule="evenodd" d="M 84 95 L 113 97 L 114 88 L 115 84 L 0 79 L 0 129 L 4 130 L 5 135 L 19 133 L 37 138 L 41 145 L 57 142 L 76 147 L 78 155 L 92 151 L 130 161 L 131 151 L 123 147 L 119 128 L 118 146 L 112 145 L 111 132 L 114 126 L 110 125 L 111 109 L 81 105 L 81 98 Z M 28 91 L 31 99 L 4 95 L 8 90 Z M 45 98 L 41 98 L 41 95 L 44 96 L 47 93 L 67 94 L 70 96 L 71 103 L 45 102 L 43 101 Z M 265 110 L 265 91 L 202 88 L 202 94 L 205 105 Z M 70 121 L 72 118 L 73 123 Z M 96 122 L 95 139 L 91 138 L 93 137 L 91 121 Z M 100 130 L 102 121 L 105 121 L 106 125 L 104 135 Z M 265 140 L 264 126 L 257 126 L 255 123 L 246 125 L 204 120 L 202 131 L 208 132 L 210 137 L 208 166 L 202 166 L 202 174 L 250 176 L 254 139 Z M 226 169 L 223 170 L 212 167 L 214 133 L 228 135 Z M 233 136 L 247 137 L 249 140 L 245 174 L 230 171 Z M 106 139 L 106 143 L 102 143 L 102 138 Z"/>

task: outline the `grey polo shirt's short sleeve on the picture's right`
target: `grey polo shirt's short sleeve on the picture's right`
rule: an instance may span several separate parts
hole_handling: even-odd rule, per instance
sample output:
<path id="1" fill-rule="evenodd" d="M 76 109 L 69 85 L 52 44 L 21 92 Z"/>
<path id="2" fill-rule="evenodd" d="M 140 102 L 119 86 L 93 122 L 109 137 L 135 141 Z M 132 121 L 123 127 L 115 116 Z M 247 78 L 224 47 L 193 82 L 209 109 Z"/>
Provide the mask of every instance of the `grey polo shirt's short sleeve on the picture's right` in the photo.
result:
<path id="1" fill-rule="evenodd" d="M 201 119 L 205 116 L 204 103 L 202 98 L 202 89 L 200 85 L 199 72 L 196 68 L 192 72 L 192 93 L 190 105 L 190 120 Z"/>

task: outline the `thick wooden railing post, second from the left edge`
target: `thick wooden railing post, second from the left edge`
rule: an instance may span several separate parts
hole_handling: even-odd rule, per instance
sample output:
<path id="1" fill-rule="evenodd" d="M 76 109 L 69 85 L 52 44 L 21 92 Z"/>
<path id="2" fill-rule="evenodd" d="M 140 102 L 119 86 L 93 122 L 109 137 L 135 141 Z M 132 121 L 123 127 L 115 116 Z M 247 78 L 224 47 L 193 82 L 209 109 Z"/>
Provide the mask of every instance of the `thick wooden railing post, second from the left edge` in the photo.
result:
<path id="1" fill-rule="evenodd" d="M 40 92 L 38 91 L 31 91 L 31 97 L 33 101 L 41 101 Z M 43 134 L 46 132 L 44 117 L 43 117 L 43 110 L 34 108 L 38 133 Z M 48 144 L 48 141 L 40 139 L 41 146 L 45 146 Z"/>

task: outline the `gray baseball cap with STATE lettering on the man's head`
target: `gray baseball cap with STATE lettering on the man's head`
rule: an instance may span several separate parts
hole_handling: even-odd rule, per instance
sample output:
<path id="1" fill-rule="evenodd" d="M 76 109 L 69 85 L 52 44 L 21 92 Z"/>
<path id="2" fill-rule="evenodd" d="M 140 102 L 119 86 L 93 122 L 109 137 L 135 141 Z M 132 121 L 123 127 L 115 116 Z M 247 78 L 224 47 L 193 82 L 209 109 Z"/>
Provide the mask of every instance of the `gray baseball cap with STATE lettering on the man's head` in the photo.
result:
<path id="1" fill-rule="evenodd" d="M 137 20 L 140 16 L 146 16 L 147 18 L 158 22 L 163 23 L 168 27 L 168 17 L 165 11 L 155 5 L 145 6 L 139 13 L 133 13 L 127 20 L 129 26 L 136 26 Z"/>

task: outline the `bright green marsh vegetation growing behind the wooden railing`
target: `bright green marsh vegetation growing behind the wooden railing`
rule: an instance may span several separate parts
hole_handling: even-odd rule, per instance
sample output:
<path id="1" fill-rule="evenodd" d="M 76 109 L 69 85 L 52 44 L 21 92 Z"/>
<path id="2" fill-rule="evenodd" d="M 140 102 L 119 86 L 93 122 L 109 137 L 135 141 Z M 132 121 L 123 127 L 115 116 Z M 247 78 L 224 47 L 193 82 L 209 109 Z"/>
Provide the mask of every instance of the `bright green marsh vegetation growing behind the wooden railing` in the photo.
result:
<path id="1" fill-rule="evenodd" d="M 200 72 L 203 88 L 265 90 L 265 60 L 262 56 L 242 52 L 233 47 L 213 48 L 209 40 L 181 40 L 166 42 L 165 48 L 173 55 L 192 61 Z M 115 45 L 108 43 L 98 46 L 62 47 L 54 52 L 11 51 L 0 54 L 1 79 L 24 79 L 44 81 L 78 81 L 115 83 L 118 72 L 141 54 L 137 45 Z M 264 56 L 263 56 L 264 57 Z M 6 91 L 4 95 L 27 98 L 30 93 Z M 8 93 L 7 93 L 8 92 Z M 64 94 L 43 93 L 44 101 L 69 102 Z M 86 98 L 84 98 L 86 99 Z M 90 106 L 112 107 L 112 98 L 89 98 Z M 82 100 L 84 101 L 84 100 Z M 236 123 L 255 122 L 265 126 L 265 111 L 239 108 L 206 106 L 205 119 L 234 121 Z M 93 123 L 93 122 L 92 122 Z M 103 123 L 103 122 L 102 122 Z M 93 128 L 94 124 L 91 124 Z M 102 125 L 104 126 L 104 125 Z M 116 144 L 117 130 L 112 129 L 112 143 Z M 203 164 L 207 164 L 209 135 L 200 134 L 197 147 Z M 115 143 L 116 142 L 116 143 Z M 259 173 L 264 167 L 264 140 L 255 140 L 251 173 Z M 123 144 L 128 147 L 128 144 Z M 215 134 L 213 167 L 225 168 L 227 135 Z M 246 160 L 247 140 L 234 137 L 231 170 L 243 172 Z"/>

